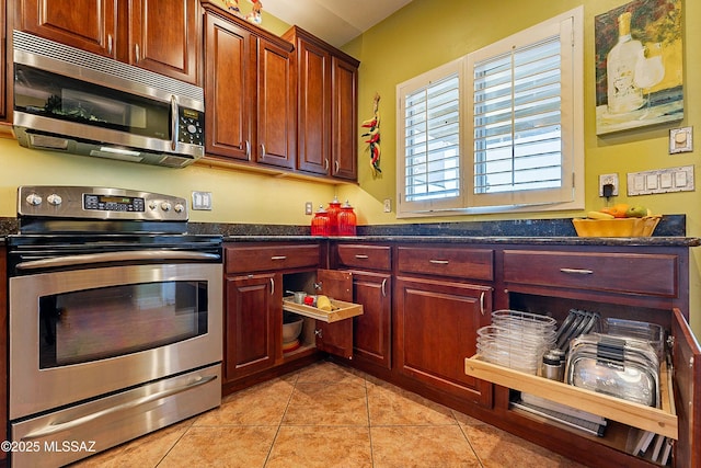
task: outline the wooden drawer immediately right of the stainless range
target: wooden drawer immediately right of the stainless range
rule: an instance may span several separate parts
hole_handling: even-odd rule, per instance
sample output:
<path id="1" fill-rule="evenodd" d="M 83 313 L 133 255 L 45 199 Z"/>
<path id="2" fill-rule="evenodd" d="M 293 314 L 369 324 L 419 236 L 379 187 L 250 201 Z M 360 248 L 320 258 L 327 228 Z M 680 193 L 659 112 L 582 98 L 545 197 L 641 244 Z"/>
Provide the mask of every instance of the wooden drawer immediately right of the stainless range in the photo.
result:
<path id="1" fill-rule="evenodd" d="M 319 244 L 227 247 L 225 250 L 227 273 L 319 266 Z"/>

